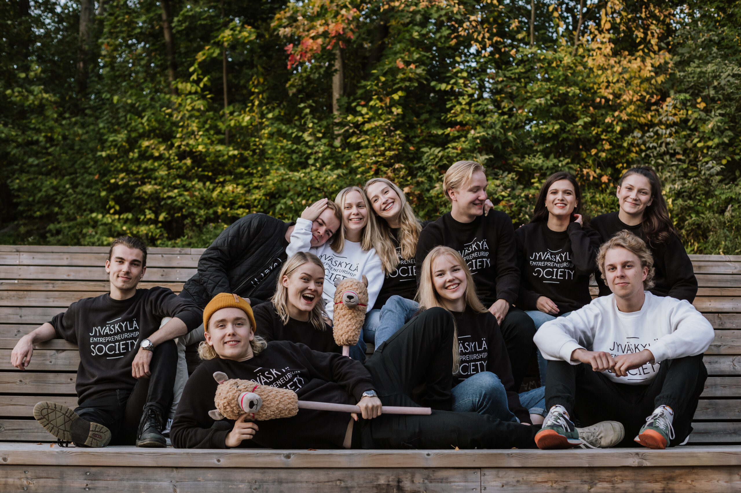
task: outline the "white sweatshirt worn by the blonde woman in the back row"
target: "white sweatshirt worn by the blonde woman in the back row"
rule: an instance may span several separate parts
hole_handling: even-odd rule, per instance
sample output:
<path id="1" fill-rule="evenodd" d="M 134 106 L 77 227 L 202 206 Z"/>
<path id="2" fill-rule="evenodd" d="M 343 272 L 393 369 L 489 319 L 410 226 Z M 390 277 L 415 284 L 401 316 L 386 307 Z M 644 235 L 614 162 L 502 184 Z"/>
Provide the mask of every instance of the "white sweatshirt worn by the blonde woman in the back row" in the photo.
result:
<path id="1" fill-rule="evenodd" d="M 364 250 L 359 243 L 345 240 L 342 252 L 335 252 L 329 246 L 331 242 L 322 246 L 311 246 L 311 221 L 307 219 L 296 219 L 296 227 L 290 234 L 290 244 L 285 252 L 290 258 L 296 252 L 310 252 L 322 260 L 325 266 L 325 285 L 322 298 L 325 301 L 325 309 L 330 318 L 334 315 L 334 281 L 345 278 L 368 279 L 368 307 L 366 313 L 370 312 L 376 304 L 378 293 L 381 292 L 385 274 L 381 268 L 381 258 L 375 248 Z"/>

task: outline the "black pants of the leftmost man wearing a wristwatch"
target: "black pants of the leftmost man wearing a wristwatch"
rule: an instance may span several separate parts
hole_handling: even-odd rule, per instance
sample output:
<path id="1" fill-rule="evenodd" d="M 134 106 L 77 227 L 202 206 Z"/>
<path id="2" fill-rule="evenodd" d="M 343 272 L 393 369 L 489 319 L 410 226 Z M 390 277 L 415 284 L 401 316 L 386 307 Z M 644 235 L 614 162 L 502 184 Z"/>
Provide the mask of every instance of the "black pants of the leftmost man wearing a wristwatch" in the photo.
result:
<path id="1" fill-rule="evenodd" d="M 110 429 L 110 445 L 134 445 L 144 409 L 155 409 L 163 420 L 173 403 L 178 363 L 174 341 L 156 348 L 150 361 L 150 378 L 139 378 L 133 390 L 108 390 L 79 403 L 76 414 Z"/>

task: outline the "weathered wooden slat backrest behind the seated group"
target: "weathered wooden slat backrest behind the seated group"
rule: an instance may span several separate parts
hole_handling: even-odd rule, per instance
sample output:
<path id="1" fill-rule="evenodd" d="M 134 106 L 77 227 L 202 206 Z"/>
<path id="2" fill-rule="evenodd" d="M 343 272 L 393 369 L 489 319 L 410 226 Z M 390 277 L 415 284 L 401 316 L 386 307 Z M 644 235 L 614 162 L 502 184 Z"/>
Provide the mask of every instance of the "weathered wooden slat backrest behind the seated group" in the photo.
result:
<path id="1" fill-rule="evenodd" d="M 196 272 L 204 249 L 153 248 L 140 286 L 174 292 Z M 76 403 L 79 354 L 66 341 L 36 348 L 33 369 L 10 366 L 21 335 L 49 321 L 79 298 L 108 290 L 107 248 L 0 245 L 0 440 L 48 441 L 31 418 L 33 404 Z M 711 375 L 695 414 L 691 443 L 741 443 L 741 255 L 691 255 L 700 290 L 694 305 L 715 329 L 705 353 Z M 593 295 L 597 295 L 593 286 Z M 45 432 L 44 432 L 45 433 Z"/>

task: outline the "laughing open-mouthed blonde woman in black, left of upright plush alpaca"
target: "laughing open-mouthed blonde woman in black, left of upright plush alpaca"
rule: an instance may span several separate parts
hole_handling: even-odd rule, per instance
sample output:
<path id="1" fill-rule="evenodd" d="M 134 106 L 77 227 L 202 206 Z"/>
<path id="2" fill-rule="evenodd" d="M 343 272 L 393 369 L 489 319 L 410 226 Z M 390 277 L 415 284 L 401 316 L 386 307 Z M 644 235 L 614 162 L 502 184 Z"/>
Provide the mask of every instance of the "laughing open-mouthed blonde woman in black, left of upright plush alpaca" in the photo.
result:
<path id="1" fill-rule="evenodd" d="M 294 253 L 283 264 L 270 303 L 253 309 L 256 334 L 265 341 L 303 343 L 314 351 L 342 352 L 324 321 L 324 264 L 313 253 Z"/>

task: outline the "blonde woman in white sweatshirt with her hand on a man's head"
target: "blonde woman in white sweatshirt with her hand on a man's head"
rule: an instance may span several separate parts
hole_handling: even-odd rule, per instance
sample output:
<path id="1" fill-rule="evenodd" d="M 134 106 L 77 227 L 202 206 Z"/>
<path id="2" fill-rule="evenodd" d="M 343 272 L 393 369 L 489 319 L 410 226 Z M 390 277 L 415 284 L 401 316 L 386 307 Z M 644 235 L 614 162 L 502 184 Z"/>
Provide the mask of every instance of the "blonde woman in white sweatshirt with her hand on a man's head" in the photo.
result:
<path id="1" fill-rule="evenodd" d="M 335 281 L 362 278 L 365 275 L 368 279 L 368 312 L 376 303 L 384 278 L 381 259 L 373 244 L 376 238 L 376 218 L 371 212 L 365 192 L 359 187 L 344 188 L 337 194 L 335 204 L 342 212 L 342 227 L 330 243 L 311 246 L 311 221 L 314 215 L 322 212 L 320 201 L 308 207 L 302 217 L 296 219 L 296 227 L 290 235 L 290 245 L 286 248 L 289 256 L 296 252 L 311 252 L 324 264 L 325 285 L 322 298 L 329 320 L 334 314 Z M 350 357 L 365 360 L 365 342 L 362 336 L 357 346 L 350 348 Z"/>

